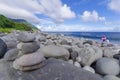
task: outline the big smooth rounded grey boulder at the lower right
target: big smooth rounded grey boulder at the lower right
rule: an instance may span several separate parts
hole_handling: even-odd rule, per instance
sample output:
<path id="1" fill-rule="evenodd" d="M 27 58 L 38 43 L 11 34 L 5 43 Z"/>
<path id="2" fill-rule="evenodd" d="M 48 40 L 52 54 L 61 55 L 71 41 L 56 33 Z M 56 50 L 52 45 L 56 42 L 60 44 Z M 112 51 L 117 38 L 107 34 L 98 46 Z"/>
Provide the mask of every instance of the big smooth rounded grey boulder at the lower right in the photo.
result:
<path id="1" fill-rule="evenodd" d="M 96 62 L 96 71 L 103 75 L 118 75 L 120 72 L 119 62 L 116 59 L 101 58 Z"/>

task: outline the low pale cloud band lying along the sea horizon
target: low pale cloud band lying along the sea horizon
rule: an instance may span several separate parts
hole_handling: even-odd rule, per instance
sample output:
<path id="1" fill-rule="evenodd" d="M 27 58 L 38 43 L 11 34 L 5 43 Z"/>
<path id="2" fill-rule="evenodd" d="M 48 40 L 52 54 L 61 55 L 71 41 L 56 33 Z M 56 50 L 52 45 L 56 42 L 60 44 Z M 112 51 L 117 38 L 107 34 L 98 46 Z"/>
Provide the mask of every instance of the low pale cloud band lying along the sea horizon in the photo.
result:
<path id="1" fill-rule="evenodd" d="M 113 31 L 115 27 L 88 26 L 88 25 L 37 25 L 42 31 Z"/>

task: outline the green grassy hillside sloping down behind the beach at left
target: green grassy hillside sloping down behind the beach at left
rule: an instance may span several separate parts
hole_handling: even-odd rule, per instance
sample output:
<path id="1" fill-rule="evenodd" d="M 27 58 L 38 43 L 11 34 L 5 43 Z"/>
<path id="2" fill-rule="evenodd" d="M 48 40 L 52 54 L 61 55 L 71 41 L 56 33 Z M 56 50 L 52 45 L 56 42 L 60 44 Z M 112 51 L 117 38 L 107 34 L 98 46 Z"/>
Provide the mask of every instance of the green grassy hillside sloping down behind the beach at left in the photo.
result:
<path id="1" fill-rule="evenodd" d="M 34 31 L 37 30 L 28 22 L 14 22 L 7 17 L 0 15 L 0 32 L 11 32 L 11 30 Z"/>

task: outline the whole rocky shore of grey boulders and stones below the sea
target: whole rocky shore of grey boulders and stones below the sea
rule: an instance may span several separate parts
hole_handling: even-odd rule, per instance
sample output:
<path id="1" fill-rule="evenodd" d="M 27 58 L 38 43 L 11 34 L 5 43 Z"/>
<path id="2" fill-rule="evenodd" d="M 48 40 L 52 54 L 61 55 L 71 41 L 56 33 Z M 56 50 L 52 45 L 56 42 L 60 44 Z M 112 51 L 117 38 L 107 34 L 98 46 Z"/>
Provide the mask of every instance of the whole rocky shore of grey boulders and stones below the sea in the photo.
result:
<path id="1" fill-rule="evenodd" d="M 0 80 L 120 80 L 120 46 L 43 32 L 1 33 Z"/>

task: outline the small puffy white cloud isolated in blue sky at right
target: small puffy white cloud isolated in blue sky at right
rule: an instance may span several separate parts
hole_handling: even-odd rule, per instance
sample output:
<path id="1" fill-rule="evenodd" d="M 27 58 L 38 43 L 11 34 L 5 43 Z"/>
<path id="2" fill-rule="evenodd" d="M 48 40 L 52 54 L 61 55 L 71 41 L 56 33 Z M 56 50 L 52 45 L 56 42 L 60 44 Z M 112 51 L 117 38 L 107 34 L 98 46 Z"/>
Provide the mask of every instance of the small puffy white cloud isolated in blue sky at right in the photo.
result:
<path id="1" fill-rule="evenodd" d="M 97 21 L 105 21 L 105 17 L 99 17 L 96 11 L 84 11 L 81 16 L 82 20 L 85 22 L 97 22 Z"/>

